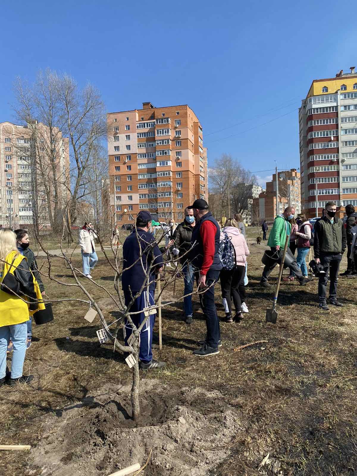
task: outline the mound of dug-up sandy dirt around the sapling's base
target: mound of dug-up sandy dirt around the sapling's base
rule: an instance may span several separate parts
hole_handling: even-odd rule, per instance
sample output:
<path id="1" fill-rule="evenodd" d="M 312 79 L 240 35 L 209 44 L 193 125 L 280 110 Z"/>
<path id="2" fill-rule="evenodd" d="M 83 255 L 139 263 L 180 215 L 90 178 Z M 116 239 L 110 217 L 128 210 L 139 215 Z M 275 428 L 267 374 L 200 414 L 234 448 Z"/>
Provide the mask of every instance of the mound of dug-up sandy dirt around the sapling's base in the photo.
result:
<path id="1" fill-rule="evenodd" d="M 33 463 L 46 476 L 109 475 L 139 462 L 150 449 L 146 476 L 203 476 L 230 453 L 229 443 L 241 429 L 238 415 L 217 391 L 183 388 L 156 380 L 141 382 L 141 417 L 130 418 L 130 387 L 87 397 L 57 413 L 45 424 L 44 436 L 31 450 Z M 59 419 L 60 418 L 60 419 Z"/>

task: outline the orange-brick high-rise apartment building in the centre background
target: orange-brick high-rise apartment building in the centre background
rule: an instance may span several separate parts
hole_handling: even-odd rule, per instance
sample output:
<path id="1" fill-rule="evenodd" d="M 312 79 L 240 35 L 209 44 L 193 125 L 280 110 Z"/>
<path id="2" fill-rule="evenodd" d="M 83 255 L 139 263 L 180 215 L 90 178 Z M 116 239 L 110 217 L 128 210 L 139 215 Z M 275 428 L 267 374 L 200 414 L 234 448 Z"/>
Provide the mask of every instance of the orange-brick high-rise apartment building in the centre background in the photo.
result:
<path id="1" fill-rule="evenodd" d="M 139 210 L 181 221 L 196 198 L 208 199 L 202 126 L 187 105 L 108 114 L 110 203 L 115 222 L 133 223 Z M 125 211 L 127 210 L 127 211 Z"/>

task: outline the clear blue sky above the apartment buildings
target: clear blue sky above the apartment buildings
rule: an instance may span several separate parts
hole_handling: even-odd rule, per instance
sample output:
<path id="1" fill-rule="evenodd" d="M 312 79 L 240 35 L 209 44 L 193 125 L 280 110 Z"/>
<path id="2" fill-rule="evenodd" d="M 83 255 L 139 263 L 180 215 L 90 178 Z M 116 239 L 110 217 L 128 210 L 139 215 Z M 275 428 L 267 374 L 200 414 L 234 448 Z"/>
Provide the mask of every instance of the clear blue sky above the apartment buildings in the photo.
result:
<path id="1" fill-rule="evenodd" d="M 312 79 L 357 66 L 355 3 L 297 3 L 5 2 L 0 121 L 14 121 L 15 77 L 50 67 L 93 83 L 108 111 L 188 104 L 209 165 L 231 154 L 264 182 L 274 160 L 299 167 L 297 108 Z"/>

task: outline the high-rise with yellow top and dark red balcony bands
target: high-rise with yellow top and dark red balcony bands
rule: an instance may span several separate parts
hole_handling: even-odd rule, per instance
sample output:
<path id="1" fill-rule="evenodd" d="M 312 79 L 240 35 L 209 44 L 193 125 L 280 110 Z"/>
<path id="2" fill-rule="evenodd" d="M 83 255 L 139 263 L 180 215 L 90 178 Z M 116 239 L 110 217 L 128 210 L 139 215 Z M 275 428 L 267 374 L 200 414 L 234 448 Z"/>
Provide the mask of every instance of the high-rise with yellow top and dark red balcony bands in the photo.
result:
<path id="1" fill-rule="evenodd" d="M 321 216 L 328 200 L 343 216 L 357 205 L 357 74 L 314 79 L 299 109 L 302 208 Z M 317 194 L 316 194 L 317 188 Z M 317 202 L 317 203 L 316 203 Z"/>

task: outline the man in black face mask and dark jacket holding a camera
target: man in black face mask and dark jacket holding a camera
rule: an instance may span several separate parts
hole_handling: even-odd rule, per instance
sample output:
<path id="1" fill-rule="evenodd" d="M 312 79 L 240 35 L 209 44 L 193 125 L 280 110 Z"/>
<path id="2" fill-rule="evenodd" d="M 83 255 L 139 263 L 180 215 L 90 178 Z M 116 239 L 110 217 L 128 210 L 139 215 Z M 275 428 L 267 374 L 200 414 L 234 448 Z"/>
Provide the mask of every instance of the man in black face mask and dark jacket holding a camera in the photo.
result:
<path id="1" fill-rule="evenodd" d="M 329 303 L 342 307 L 337 301 L 338 268 L 347 246 L 346 230 L 341 218 L 336 217 L 336 203 L 326 202 L 326 214 L 315 223 L 314 258 L 325 267 L 326 273 L 318 278 L 319 308 L 328 311 L 326 301 L 327 280 L 330 278 Z"/>

